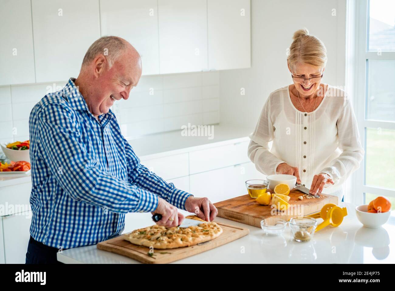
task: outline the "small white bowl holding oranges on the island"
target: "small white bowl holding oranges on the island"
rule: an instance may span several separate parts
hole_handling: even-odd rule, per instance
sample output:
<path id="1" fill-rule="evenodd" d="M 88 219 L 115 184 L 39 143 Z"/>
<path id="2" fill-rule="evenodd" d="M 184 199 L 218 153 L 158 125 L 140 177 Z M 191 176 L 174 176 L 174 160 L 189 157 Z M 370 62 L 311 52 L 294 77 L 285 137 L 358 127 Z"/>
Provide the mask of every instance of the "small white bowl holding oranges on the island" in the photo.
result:
<path id="1" fill-rule="evenodd" d="M 391 202 L 385 196 L 378 196 L 369 204 L 355 207 L 355 212 L 363 226 L 378 228 L 388 221 L 391 215 Z"/>

